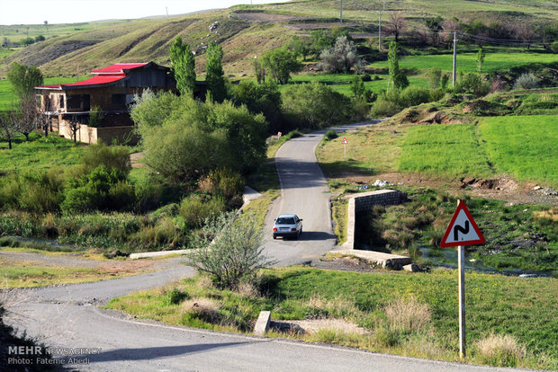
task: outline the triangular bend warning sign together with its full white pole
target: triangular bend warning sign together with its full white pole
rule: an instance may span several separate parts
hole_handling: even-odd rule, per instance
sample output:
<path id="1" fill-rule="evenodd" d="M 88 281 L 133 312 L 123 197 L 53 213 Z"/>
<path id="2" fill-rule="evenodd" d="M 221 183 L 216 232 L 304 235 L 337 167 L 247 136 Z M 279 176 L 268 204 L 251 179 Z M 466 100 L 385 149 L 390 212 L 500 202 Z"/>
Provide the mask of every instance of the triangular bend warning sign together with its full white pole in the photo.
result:
<path id="1" fill-rule="evenodd" d="M 463 200 L 457 201 L 454 217 L 452 217 L 440 246 L 457 246 L 457 263 L 459 270 L 459 356 L 465 357 L 465 245 L 483 244 L 479 226 L 465 206 Z"/>

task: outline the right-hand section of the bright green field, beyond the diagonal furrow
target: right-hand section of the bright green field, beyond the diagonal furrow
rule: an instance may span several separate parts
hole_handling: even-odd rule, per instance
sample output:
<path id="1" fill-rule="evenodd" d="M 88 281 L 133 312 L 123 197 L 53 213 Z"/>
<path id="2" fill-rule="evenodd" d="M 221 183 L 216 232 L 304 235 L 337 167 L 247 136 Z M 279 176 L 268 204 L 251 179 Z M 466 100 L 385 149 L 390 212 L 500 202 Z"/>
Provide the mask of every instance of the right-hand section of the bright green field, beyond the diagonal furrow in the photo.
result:
<path id="1" fill-rule="evenodd" d="M 484 118 L 482 139 L 496 172 L 558 184 L 558 121 L 552 115 Z"/>

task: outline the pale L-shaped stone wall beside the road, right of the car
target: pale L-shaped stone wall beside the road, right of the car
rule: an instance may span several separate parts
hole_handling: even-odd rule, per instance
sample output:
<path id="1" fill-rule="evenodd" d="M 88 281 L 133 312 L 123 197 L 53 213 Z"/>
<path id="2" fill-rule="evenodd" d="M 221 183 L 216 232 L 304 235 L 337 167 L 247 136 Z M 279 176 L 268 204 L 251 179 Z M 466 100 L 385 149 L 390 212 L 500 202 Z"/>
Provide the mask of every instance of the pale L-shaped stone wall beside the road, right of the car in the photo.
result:
<path id="1" fill-rule="evenodd" d="M 355 195 L 348 201 L 347 242 L 345 249 L 355 249 L 356 212 L 370 210 L 374 206 L 392 206 L 401 204 L 407 196 L 398 190 L 376 190 Z"/>

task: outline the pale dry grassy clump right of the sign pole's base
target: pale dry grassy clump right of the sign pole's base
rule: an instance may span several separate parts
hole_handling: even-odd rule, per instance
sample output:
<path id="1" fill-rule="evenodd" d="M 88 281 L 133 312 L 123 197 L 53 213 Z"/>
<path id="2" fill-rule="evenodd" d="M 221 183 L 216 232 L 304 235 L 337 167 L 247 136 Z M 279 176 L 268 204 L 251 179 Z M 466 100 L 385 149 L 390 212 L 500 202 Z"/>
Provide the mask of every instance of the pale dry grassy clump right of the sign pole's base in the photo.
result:
<path id="1" fill-rule="evenodd" d="M 483 363 L 498 367 L 516 367 L 527 353 L 525 346 L 509 334 L 500 336 L 491 333 L 477 341 L 475 348 Z"/>

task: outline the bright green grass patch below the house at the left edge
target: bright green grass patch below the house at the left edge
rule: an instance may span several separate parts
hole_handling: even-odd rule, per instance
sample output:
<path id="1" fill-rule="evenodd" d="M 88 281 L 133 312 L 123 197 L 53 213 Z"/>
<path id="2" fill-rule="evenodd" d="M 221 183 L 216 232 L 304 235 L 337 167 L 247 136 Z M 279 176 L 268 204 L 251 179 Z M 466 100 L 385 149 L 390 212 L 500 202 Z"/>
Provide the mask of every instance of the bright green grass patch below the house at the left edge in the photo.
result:
<path id="1" fill-rule="evenodd" d="M 31 133 L 30 139 L 26 142 L 25 137 L 17 137 L 11 150 L 6 142 L 0 142 L 0 173 L 67 167 L 77 164 L 85 151 L 84 145 L 54 133 L 42 137 L 35 132 Z"/>

